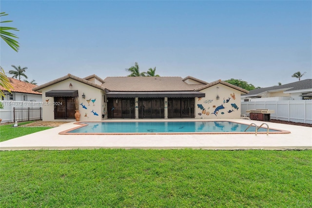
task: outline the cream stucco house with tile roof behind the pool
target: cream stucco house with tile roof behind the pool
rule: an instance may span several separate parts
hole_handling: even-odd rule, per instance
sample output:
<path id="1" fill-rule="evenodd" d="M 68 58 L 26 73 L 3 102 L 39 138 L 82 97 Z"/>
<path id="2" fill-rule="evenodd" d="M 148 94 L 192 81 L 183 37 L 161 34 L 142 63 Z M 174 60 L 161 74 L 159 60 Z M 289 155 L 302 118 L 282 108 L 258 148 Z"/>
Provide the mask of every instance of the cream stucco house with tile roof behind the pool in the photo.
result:
<path id="1" fill-rule="evenodd" d="M 64 77 L 33 88 L 42 92 L 43 121 L 116 118 L 240 118 L 247 90 L 194 77 Z"/>

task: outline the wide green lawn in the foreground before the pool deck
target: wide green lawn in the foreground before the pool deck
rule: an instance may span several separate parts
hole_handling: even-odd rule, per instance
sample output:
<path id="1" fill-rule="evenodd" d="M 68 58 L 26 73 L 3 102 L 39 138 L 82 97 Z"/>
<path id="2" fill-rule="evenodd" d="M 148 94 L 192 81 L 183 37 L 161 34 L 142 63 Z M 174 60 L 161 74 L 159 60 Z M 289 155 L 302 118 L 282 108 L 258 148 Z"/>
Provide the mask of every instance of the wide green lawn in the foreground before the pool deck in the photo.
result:
<path id="1" fill-rule="evenodd" d="M 312 207 L 312 151 L 0 152 L 11 207 Z"/>

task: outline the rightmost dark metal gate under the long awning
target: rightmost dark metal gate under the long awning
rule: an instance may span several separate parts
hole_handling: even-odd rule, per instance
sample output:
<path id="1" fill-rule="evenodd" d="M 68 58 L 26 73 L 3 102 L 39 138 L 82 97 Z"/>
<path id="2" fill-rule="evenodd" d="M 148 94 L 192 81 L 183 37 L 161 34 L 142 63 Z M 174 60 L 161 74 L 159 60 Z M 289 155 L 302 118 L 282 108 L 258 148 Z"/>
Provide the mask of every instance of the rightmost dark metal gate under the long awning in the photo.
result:
<path id="1" fill-rule="evenodd" d="M 168 118 L 195 118 L 195 99 L 168 98 Z"/>

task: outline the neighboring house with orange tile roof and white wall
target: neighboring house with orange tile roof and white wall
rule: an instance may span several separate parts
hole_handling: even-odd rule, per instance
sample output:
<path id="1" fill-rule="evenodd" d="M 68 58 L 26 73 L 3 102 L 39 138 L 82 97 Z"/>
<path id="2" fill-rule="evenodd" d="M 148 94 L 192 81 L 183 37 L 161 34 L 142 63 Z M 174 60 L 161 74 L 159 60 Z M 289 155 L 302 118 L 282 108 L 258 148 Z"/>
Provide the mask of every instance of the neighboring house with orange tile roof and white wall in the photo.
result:
<path id="1" fill-rule="evenodd" d="M 8 77 L 8 79 L 12 84 L 13 89 L 11 89 L 11 93 L 9 93 L 3 87 L 0 87 L 5 95 L 5 97 L 1 97 L 2 101 L 42 101 L 41 93 L 32 90 L 32 88 L 36 87 L 37 85 L 26 83 L 10 77 Z"/>

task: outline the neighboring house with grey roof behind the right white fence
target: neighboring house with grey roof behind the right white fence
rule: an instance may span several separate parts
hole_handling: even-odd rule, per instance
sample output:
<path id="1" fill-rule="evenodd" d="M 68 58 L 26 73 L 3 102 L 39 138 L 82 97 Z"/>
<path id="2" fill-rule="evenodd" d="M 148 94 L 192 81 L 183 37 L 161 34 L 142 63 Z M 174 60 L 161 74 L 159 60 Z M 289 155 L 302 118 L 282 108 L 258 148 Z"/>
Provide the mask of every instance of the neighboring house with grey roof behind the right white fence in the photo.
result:
<path id="1" fill-rule="evenodd" d="M 282 101 L 312 99 L 312 79 L 250 90 L 242 101 Z"/>

